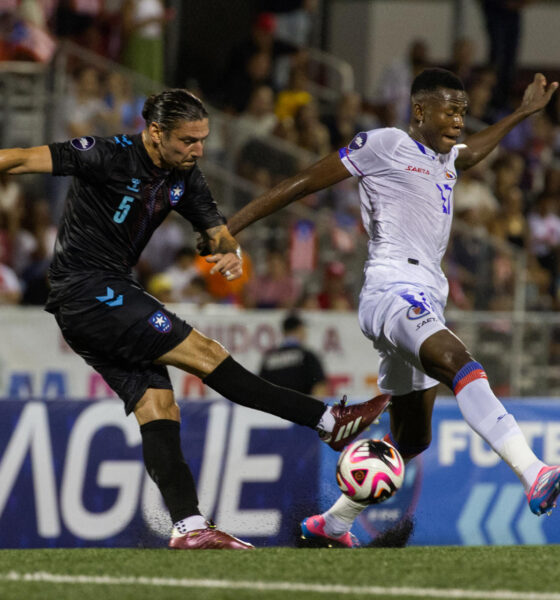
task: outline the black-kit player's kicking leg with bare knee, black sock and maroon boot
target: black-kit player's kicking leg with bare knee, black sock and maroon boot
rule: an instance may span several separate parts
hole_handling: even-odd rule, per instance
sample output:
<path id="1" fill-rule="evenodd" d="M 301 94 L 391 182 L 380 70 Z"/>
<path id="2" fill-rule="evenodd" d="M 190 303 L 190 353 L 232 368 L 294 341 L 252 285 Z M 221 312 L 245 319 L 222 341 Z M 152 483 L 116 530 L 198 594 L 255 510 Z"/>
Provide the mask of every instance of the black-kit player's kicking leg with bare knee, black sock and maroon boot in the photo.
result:
<path id="1" fill-rule="evenodd" d="M 341 450 L 358 436 L 389 402 L 387 395 L 381 395 L 363 404 L 326 406 L 311 396 L 274 385 L 251 373 L 219 342 L 196 330 L 157 362 L 197 375 L 237 404 L 316 429 L 335 450 Z"/>

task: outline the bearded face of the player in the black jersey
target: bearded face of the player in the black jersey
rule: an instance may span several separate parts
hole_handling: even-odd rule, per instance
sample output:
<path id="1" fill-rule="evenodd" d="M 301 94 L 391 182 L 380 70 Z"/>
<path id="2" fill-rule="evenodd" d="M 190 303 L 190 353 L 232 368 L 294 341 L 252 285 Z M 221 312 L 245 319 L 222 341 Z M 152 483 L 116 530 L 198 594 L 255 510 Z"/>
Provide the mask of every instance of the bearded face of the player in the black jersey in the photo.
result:
<path id="1" fill-rule="evenodd" d="M 170 131 L 164 131 L 158 145 L 161 166 L 192 169 L 204 153 L 204 141 L 209 133 L 208 119 L 181 121 Z"/>

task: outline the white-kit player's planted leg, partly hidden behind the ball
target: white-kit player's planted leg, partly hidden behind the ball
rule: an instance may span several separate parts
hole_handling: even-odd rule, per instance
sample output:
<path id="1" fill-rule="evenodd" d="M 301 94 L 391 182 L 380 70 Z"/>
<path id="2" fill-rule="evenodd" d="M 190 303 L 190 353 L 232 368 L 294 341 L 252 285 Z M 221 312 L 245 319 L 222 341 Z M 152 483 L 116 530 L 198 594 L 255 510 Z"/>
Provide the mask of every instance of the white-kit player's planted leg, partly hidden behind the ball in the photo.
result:
<path id="1" fill-rule="evenodd" d="M 384 371 L 385 383 L 390 385 L 390 379 L 396 373 L 394 370 L 392 373 L 387 369 Z M 403 373 L 402 367 L 399 372 Z M 399 450 L 405 462 L 409 462 L 430 445 L 435 399 L 435 386 L 392 397 L 389 406 L 391 431 L 384 440 Z M 339 545 L 354 548 L 358 544 L 350 534 L 350 529 L 364 509 L 363 504 L 341 494 L 327 511 L 303 520 L 302 534 L 305 538 L 327 538 Z"/>

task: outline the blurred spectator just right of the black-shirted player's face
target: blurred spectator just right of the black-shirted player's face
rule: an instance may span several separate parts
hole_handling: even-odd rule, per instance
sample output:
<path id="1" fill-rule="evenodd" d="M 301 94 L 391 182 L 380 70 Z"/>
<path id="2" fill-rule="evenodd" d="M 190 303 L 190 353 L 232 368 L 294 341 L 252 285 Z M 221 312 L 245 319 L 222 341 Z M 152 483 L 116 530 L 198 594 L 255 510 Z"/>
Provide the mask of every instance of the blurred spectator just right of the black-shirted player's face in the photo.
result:
<path id="1" fill-rule="evenodd" d="M 274 91 L 268 85 L 257 86 L 251 92 L 247 109 L 233 124 L 233 153 L 237 155 L 250 139 L 271 135 L 277 122 L 274 114 Z"/>

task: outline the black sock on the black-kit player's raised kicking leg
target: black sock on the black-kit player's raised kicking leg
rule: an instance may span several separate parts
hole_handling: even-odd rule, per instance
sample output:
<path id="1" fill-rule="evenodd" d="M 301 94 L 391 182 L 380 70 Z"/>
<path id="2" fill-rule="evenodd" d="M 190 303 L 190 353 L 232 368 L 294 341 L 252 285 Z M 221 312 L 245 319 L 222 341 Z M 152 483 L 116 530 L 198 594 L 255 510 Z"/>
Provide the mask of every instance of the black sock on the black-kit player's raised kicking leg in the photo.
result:
<path id="1" fill-rule="evenodd" d="M 325 404 L 311 396 L 265 381 L 247 371 L 231 356 L 202 381 L 236 404 L 311 428 L 317 426 L 326 408 Z"/>

